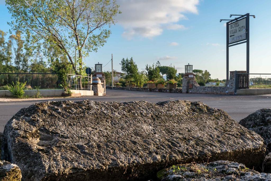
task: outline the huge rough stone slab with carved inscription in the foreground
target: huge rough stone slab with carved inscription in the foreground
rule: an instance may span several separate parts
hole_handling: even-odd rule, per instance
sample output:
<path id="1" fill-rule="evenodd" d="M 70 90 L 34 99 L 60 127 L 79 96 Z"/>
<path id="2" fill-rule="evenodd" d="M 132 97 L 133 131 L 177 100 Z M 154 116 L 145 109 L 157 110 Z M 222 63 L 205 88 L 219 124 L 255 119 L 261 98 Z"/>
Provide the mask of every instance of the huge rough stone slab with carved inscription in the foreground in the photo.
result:
<path id="1" fill-rule="evenodd" d="M 166 166 L 231 160 L 257 167 L 263 139 L 201 102 L 48 101 L 6 124 L 2 158 L 24 180 L 147 180 Z"/>

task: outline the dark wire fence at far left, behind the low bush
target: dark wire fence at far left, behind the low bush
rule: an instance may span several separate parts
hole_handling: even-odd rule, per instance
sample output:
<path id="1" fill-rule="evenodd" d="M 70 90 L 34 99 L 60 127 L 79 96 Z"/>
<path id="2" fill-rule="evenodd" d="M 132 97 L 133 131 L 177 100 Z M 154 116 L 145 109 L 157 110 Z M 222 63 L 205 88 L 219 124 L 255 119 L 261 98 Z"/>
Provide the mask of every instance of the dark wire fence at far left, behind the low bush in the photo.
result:
<path id="1" fill-rule="evenodd" d="M 39 86 L 40 89 L 61 88 L 57 73 L 0 73 L 0 86 L 26 82 L 28 89 Z"/>

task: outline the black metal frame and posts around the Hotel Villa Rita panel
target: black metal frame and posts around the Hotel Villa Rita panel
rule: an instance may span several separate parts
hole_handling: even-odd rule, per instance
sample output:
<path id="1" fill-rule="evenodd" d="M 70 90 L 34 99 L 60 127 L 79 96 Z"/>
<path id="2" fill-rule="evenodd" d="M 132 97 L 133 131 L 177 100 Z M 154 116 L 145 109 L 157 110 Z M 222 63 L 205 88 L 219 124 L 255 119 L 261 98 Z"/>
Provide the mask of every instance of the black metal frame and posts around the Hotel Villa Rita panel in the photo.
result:
<path id="1" fill-rule="evenodd" d="M 232 24 L 234 22 L 237 22 L 237 21 L 240 21 L 240 20 L 243 20 L 246 18 L 246 39 L 245 40 L 239 40 L 239 41 L 235 41 L 233 43 L 229 43 L 229 24 Z M 247 14 L 244 14 L 240 17 L 237 17 L 237 18 L 234 18 L 233 20 L 231 21 L 228 21 L 226 23 L 226 27 L 227 27 L 227 43 L 226 43 L 226 69 L 227 69 L 227 80 L 229 80 L 229 47 L 231 46 L 235 46 L 235 45 L 239 45 L 239 44 L 242 44 L 242 43 L 247 43 L 247 73 L 249 73 L 249 13 Z"/>

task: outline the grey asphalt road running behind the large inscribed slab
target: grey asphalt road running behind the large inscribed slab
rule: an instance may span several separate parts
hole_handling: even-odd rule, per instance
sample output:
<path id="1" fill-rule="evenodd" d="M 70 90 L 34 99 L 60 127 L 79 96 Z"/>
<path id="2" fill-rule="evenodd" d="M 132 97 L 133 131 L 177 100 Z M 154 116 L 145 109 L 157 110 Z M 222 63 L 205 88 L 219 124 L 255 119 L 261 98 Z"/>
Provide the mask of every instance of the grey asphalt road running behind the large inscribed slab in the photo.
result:
<path id="1" fill-rule="evenodd" d="M 54 100 L 82 101 L 89 99 L 92 101 L 149 101 L 159 102 L 167 100 L 188 100 L 201 101 L 210 107 L 223 109 L 233 119 L 239 122 L 249 114 L 262 108 L 271 108 L 271 95 L 269 96 L 237 96 L 237 95 L 209 95 L 209 94 L 181 94 L 163 92 L 139 92 L 130 90 L 109 90 L 107 96 L 90 96 L 80 98 L 60 98 Z M 8 120 L 21 108 L 28 107 L 39 101 L 20 101 L 20 102 L 0 102 L 0 132 L 4 131 L 4 126 Z"/>

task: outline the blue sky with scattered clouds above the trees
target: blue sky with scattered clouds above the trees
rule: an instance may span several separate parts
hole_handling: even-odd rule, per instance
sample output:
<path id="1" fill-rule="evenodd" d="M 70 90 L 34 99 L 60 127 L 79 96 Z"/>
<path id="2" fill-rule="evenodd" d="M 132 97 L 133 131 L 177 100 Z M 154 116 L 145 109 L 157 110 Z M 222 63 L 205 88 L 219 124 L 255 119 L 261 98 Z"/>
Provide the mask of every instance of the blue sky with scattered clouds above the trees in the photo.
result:
<path id="1" fill-rule="evenodd" d="M 250 18 L 250 73 L 271 73 L 271 1 L 118 0 L 122 14 L 111 27 L 104 47 L 85 58 L 89 67 L 108 63 L 114 69 L 122 58 L 133 57 L 139 70 L 160 61 L 178 72 L 184 65 L 208 70 L 212 78 L 226 78 L 226 27 L 220 19 L 230 14 Z M 0 0 L 0 29 L 8 31 L 11 16 Z M 110 70 L 111 63 L 103 68 Z M 230 71 L 246 70 L 246 44 L 230 47 Z"/>

